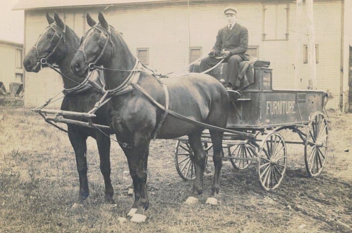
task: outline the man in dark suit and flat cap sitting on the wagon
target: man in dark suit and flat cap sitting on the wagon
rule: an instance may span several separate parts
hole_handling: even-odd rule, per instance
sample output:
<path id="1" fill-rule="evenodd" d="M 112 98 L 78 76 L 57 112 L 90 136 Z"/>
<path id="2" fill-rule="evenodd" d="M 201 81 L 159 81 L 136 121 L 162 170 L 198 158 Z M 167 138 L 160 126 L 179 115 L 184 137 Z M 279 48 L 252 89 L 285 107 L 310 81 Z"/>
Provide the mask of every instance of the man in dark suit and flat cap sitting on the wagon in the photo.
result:
<path id="1" fill-rule="evenodd" d="M 238 79 L 240 62 L 249 60 L 249 55 L 245 54 L 248 47 L 248 30 L 237 20 L 237 9 L 227 7 L 223 11 L 226 16 L 227 25 L 218 32 L 217 39 L 209 56 L 200 62 L 200 72 L 208 70 L 225 58 L 227 62 L 227 77 L 225 86 L 230 90 L 237 90 L 236 80 Z"/>

